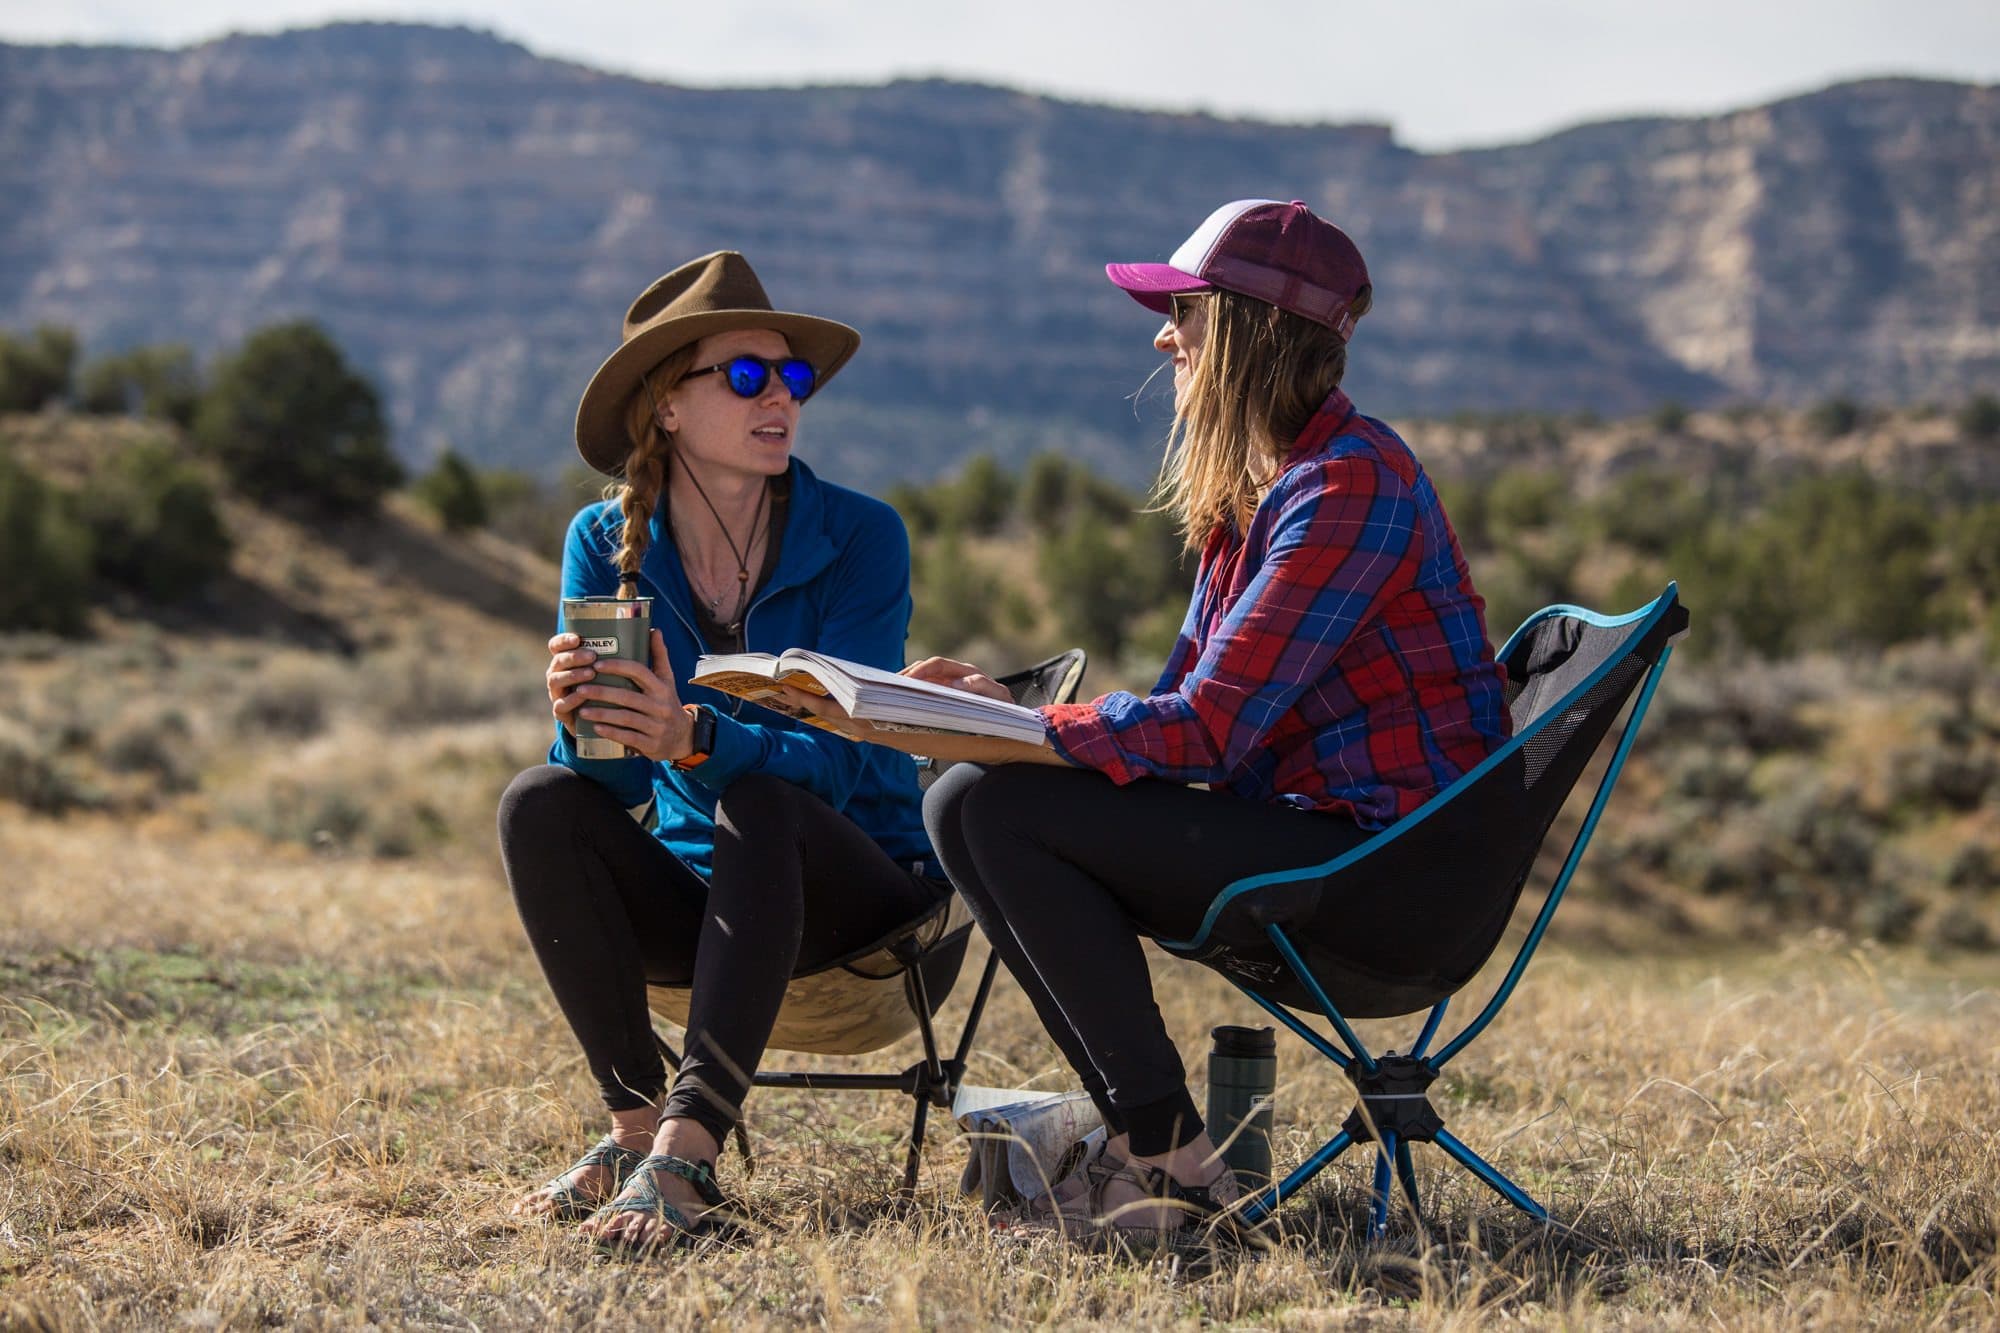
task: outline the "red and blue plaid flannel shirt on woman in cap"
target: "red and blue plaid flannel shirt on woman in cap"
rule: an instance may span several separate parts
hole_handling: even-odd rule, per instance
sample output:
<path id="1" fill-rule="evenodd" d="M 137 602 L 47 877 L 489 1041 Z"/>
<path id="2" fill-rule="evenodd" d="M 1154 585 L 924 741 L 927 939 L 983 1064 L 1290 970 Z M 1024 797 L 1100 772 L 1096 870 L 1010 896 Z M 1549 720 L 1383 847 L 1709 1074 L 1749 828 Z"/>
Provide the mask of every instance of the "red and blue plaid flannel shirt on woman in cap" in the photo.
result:
<path id="1" fill-rule="evenodd" d="M 1380 829 L 1510 733 L 1484 610 L 1410 446 L 1334 390 L 1250 530 L 1210 536 L 1154 693 L 1042 717 L 1116 783 L 1208 783 Z"/>

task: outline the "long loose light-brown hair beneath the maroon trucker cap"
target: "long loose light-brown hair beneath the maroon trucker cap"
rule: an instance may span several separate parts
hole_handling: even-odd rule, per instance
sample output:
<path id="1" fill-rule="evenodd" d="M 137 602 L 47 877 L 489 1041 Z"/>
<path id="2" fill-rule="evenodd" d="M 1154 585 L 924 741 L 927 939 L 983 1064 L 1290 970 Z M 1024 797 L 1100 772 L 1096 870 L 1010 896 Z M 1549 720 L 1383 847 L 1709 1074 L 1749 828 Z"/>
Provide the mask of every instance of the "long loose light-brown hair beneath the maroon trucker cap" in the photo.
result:
<path id="1" fill-rule="evenodd" d="M 1154 488 L 1190 552 L 1222 524 L 1250 524 L 1264 482 L 1348 370 L 1348 344 L 1324 324 L 1222 288 L 1202 306 L 1208 332 Z M 1358 318 L 1368 306 L 1364 286 L 1350 308 Z"/>

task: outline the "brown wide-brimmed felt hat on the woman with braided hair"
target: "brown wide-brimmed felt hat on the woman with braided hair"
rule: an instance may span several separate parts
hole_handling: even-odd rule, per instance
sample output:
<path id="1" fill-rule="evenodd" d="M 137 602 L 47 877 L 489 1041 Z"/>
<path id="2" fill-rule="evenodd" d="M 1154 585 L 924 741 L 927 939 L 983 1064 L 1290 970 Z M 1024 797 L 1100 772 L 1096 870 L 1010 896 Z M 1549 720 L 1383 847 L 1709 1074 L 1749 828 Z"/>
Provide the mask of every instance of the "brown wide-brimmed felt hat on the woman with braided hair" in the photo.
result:
<path id="1" fill-rule="evenodd" d="M 632 390 L 680 348 L 732 328 L 776 328 L 794 356 L 812 362 L 820 384 L 862 344 L 860 332 L 836 320 L 772 310 L 756 270 L 736 250 L 688 260 L 638 294 L 626 310 L 622 344 L 584 386 L 584 400 L 576 404 L 576 452 L 584 462 L 620 476 L 632 452 L 624 426 Z"/>

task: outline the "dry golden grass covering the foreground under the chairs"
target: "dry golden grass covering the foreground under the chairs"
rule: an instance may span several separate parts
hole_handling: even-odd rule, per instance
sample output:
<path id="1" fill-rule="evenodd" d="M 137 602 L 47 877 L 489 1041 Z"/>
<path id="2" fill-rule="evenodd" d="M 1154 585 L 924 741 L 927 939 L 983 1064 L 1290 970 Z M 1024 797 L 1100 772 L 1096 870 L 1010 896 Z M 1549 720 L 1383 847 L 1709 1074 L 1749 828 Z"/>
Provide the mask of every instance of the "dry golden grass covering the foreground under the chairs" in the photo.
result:
<path id="1" fill-rule="evenodd" d="M 990 1233 L 944 1129 L 918 1203 L 894 1207 L 890 1099 L 760 1093 L 756 1173 L 724 1163 L 754 1241 L 608 1261 L 506 1217 L 596 1127 L 504 889 L 466 861 L 0 809 L 0 1325 L 2000 1317 L 2000 969 L 1834 939 L 1536 965 L 1440 1089 L 1552 1231 L 1420 1149 L 1428 1227 L 1402 1219 L 1386 1245 L 1358 1235 L 1350 1157 L 1266 1253 L 1078 1253 Z M 1208 973 L 1162 969 L 1190 1061 L 1210 1023 L 1254 1017 Z M 1348 1099 L 1296 1047 L 1282 1073 L 1296 1157 Z M 972 1077 L 1060 1081 L 1012 987 Z"/>

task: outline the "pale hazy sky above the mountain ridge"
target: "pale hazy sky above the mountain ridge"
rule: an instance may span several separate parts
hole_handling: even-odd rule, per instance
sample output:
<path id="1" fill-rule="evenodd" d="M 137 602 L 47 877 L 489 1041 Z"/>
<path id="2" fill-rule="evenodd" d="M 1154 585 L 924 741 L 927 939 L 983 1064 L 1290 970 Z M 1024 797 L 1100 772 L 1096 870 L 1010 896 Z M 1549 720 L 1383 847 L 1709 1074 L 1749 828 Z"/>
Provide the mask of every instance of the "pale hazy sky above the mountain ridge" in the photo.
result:
<path id="1" fill-rule="evenodd" d="M 336 18 L 486 28 L 700 86 L 952 76 L 1416 148 L 1698 114 L 1868 74 L 2000 82 L 2000 0 L 0 0 L 0 40 L 184 46 Z"/>

